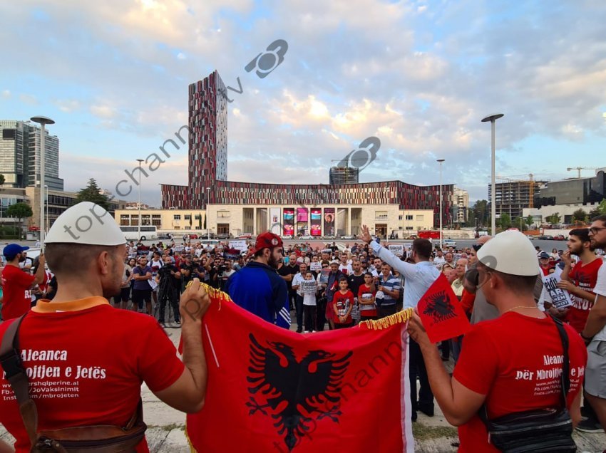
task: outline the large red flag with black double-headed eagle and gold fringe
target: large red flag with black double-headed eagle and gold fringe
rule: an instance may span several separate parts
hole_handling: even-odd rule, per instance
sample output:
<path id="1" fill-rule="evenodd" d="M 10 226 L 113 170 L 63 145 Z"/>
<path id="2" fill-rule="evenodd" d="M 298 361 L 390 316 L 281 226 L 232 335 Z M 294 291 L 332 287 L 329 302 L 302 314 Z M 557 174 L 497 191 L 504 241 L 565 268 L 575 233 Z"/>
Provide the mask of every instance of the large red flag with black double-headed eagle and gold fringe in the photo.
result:
<path id="1" fill-rule="evenodd" d="M 414 452 L 406 321 L 301 335 L 207 288 L 205 406 L 188 415 L 199 453 Z"/>

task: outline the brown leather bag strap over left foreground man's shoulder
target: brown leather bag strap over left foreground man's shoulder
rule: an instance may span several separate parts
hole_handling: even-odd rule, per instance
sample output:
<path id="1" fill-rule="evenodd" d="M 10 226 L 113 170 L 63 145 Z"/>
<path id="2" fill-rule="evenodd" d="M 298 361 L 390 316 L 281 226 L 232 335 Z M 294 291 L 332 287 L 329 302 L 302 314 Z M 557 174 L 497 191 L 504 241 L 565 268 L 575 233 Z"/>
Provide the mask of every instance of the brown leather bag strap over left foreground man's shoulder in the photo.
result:
<path id="1" fill-rule="evenodd" d="M 16 318 L 6 328 L 0 343 L 0 363 L 19 404 L 19 412 L 21 412 L 27 435 L 31 444 L 34 445 L 38 437 L 38 411 L 36 403 L 29 397 L 29 380 L 21 355 L 19 355 L 19 328 L 26 314 Z"/>

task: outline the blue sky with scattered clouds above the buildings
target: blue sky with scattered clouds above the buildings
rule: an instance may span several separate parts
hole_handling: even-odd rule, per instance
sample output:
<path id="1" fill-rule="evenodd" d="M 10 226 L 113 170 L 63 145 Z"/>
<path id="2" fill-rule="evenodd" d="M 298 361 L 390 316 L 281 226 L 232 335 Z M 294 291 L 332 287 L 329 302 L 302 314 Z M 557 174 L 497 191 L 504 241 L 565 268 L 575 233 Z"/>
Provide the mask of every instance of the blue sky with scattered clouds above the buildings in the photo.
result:
<path id="1" fill-rule="evenodd" d="M 606 167 L 604 24 L 603 0 L 0 2 L 0 119 L 53 118 L 66 190 L 93 177 L 115 193 L 187 125 L 188 85 L 216 69 L 242 87 L 227 91 L 231 181 L 327 184 L 375 136 L 360 182 L 438 184 L 443 158 L 444 184 L 485 199 L 492 113 L 505 114 L 497 175 Z M 278 39 L 282 63 L 247 72 Z M 188 184 L 187 147 L 170 154 L 143 202 Z"/>

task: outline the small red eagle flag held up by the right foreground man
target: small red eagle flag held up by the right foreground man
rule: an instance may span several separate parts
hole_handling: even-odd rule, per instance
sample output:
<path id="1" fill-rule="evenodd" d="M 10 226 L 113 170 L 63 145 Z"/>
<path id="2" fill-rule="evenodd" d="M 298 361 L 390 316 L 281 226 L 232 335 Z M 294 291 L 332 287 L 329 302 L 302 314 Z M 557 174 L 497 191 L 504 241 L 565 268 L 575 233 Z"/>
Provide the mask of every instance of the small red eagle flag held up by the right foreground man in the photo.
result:
<path id="1" fill-rule="evenodd" d="M 471 326 L 444 274 L 423 294 L 417 311 L 431 343 L 456 338 Z"/>

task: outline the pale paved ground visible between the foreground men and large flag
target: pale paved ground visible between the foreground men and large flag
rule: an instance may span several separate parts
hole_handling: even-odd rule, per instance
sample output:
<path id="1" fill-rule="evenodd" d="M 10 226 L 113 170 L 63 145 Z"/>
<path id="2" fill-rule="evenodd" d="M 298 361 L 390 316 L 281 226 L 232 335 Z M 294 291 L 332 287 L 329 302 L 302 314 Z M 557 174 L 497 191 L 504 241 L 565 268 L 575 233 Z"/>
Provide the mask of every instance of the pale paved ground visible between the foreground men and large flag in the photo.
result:
<path id="1" fill-rule="evenodd" d="M 171 326 L 171 324 L 168 323 L 167 326 Z M 181 330 L 167 328 L 166 333 L 175 346 L 178 345 Z M 446 366 L 449 371 L 453 368 L 451 362 L 446 363 Z M 150 452 L 189 453 L 190 448 L 185 437 L 185 414 L 158 400 L 145 384 L 141 386 L 141 397 L 145 423 L 148 424 L 146 437 Z M 457 451 L 457 447 L 453 446 L 453 443 L 458 442 L 456 428 L 448 424 L 438 405 L 436 405 L 433 417 L 427 417 L 422 412 L 418 412 L 418 421 L 413 424 L 413 434 L 416 452 L 450 453 Z M 11 435 L 3 427 L 0 427 L 0 439 L 13 442 Z M 606 449 L 606 434 L 603 432 L 587 434 L 575 431 L 574 439 L 579 452 L 602 453 Z"/>

